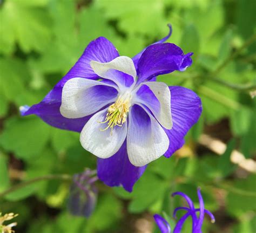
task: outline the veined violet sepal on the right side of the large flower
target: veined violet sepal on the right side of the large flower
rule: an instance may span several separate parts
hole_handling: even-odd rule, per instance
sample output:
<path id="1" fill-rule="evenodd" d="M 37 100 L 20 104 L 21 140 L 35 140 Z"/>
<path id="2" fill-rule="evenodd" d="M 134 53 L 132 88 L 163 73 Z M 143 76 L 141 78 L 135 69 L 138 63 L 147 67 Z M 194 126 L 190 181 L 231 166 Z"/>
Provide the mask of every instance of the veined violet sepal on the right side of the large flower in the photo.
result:
<path id="1" fill-rule="evenodd" d="M 201 112 L 201 99 L 193 91 L 180 86 L 170 86 L 172 129 L 164 129 L 170 145 L 165 157 L 170 157 L 184 145 L 184 136 L 196 124 Z"/>

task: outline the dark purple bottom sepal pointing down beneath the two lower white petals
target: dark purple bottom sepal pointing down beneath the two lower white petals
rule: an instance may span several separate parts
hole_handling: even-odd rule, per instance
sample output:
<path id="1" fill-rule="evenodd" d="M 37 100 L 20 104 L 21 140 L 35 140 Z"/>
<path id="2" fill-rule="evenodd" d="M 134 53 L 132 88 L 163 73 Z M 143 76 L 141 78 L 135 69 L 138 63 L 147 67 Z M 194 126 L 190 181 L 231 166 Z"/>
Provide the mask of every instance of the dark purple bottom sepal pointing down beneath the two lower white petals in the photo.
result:
<path id="1" fill-rule="evenodd" d="M 116 154 L 108 159 L 98 159 L 97 171 L 98 177 L 107 186 L 123 186 L 126 191 L 131 192 L 134 183 L 144 173 L 146 166 L 135 167 L 131 164 L 126 141 Z"/>

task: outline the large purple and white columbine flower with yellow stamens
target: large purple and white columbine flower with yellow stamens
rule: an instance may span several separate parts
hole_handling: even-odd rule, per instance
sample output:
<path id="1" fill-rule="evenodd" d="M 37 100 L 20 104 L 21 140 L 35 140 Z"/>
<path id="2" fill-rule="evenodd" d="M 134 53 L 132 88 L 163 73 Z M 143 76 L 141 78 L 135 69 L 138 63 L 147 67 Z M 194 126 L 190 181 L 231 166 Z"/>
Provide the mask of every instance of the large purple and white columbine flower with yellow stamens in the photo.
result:
<path id="1" fill-rule="evenodd" d="M 21 107 L 22 115 L 80 132 L 82 146 L 98 157 L 99 179 L 132 191 L 147 163 L 183 146 L 202 110 L 193 91 L 156 82 L 192 64 L 192 53 L 164 43 L 170 35 L 171 26 L 133 58 L 119 56 L 104 37 L 93 40 L 39 104 Z"/>

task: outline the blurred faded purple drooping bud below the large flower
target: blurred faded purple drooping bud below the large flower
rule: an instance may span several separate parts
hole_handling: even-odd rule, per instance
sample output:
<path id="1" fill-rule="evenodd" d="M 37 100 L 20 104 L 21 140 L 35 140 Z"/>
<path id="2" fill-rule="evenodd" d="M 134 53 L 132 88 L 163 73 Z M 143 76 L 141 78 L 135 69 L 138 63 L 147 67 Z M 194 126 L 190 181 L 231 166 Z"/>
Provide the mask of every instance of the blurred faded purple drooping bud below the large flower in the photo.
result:
<path id="1" fill-rule="evenodd" d="M 90 217 L 92 214 L 98 195 L 98 190 L 95 186 L 95 181 L 98 180 L 98 177 L 95 174 L 96 172 L 86 169 L 85 172 L 73 176 L 68 201 L 68 208 L 71 214 L 85 217 Z"/>

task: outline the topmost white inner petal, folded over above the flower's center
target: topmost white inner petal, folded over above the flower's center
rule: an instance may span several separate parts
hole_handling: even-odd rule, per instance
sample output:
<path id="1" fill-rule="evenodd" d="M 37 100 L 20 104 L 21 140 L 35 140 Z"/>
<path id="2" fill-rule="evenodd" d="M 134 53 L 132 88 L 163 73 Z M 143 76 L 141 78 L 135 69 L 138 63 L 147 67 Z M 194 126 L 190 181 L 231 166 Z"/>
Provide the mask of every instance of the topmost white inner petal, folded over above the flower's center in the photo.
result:
<path id="1" fill-rule="evenodd" d="M 114 81 L 118 86 L 122 85 L 123 80 L 120 80 L 119 77 L 113 75 L 110 70 L 118 70 L 123 73 L 129 74 L 133 77 L 133 81 L 136 78 L 136 69 L 134 67 L 133 61 L 129 57 L 120 56 L 108 63 L 100 63 L 98 61 L 91 61 L 91 67 L 93 71 L 98 74 L 99 77 L 110 79 Z"/>

